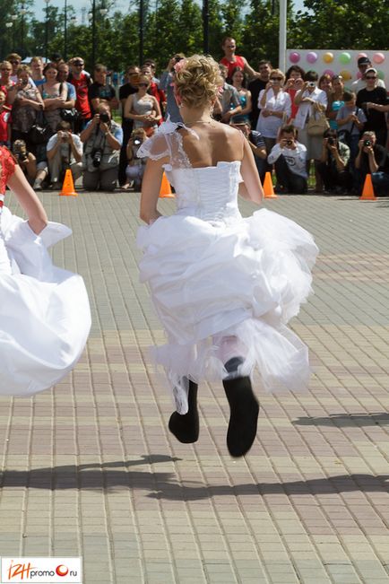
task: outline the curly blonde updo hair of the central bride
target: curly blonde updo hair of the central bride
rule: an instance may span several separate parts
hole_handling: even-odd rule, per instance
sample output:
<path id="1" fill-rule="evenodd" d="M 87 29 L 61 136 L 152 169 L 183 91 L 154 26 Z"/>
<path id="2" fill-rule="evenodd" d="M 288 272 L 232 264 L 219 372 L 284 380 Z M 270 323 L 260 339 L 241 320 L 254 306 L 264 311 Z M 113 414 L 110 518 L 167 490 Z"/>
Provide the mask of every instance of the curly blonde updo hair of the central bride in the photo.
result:
<path id="1" fill-rule="evenodd" d="M 212 57 L 194 55 L 179 61 L 175 69 L 175 92 L 188 108 L 201 108 L 219 95 L 223 80 Z"/>

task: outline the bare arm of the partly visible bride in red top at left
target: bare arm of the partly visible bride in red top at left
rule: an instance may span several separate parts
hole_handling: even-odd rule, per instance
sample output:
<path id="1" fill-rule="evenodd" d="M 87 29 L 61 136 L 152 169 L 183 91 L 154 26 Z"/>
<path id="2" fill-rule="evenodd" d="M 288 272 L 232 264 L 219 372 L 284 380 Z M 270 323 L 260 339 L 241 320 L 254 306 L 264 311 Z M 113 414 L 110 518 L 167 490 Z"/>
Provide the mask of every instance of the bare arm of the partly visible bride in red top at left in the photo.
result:
<path id="1" fill-rule="evenodd" d="M 38 196 L 32 190 L 32 187 L 30 187 L 19 165 L 16 165 L 15 171 L 8 179 L 7 184 L 27 214 L 30 228 L 34 233 L 39 234 L 48 224 L 48 215 L 40 203 Z"/>

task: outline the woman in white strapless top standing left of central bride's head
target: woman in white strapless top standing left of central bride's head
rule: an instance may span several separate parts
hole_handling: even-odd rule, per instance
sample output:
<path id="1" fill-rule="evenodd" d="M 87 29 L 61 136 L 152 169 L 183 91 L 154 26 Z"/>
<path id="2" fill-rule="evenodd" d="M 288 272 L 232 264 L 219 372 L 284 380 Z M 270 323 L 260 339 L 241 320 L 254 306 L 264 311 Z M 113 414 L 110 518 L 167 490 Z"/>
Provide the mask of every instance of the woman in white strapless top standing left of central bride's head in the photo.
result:
<path id="1" fill-rule="evenodd" d="M 143 127 L 146 135 L 151 136 L 162 116 L 158 100 L 147 92 L 149 87 L 149 77 L 140 75 L 138 91 L 125 100 L 125 118 L 134 119 L 134 129 Z"/>

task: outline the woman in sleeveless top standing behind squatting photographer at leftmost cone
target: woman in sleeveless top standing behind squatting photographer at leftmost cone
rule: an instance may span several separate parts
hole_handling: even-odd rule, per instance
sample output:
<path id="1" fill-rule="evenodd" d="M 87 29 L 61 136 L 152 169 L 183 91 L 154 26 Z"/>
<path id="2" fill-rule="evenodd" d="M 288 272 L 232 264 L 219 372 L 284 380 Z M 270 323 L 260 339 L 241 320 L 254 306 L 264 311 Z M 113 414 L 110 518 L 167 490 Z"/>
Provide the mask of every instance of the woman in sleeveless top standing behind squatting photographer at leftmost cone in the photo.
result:
<path id="1" fill-rule="evenodd" d="M 39 86 L 39 90 L 45 104 L 45 118 L 54 134 L 56 126 L 62 119 L 61 109 L 65 108 L 67 86 L 66 83 L 60 83 L 56 79 L 58 74 L 56 63 L 48 63 L 43 69 L 43 73 L 46 82 Z"/>

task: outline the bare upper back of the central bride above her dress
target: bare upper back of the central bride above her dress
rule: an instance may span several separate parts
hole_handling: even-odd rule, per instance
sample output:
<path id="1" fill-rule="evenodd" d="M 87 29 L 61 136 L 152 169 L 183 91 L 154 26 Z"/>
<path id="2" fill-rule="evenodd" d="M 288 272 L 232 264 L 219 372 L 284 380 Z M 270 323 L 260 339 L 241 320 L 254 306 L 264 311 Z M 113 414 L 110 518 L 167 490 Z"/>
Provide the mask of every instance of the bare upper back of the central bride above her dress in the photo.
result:
<path id="1" fill-rule="evenodd" d="M 236 128 L 212 122 L 191 126 L 199 139 L 186 128 L 179 130 L 183 147 L 194 168 L 216 166 L 218 162 L 242 161 L 244 136 Z"/>

